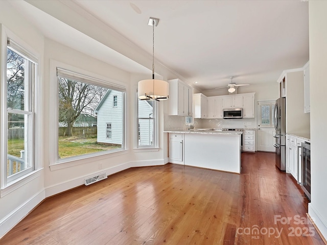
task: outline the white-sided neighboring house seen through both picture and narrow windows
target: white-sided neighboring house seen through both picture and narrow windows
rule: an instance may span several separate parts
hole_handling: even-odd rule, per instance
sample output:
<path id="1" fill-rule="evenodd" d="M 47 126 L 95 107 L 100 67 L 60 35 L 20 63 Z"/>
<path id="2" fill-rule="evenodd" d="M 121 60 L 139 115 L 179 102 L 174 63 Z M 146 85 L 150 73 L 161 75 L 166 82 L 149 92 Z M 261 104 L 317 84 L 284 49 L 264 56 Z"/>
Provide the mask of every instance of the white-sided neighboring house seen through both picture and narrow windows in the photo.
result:
<path id="1" fill-rule="evenodd" d="M 98 142 L 122 144 L 122 92 L 110 90 L 106 92 L 95 109 L 98 122 Z M 138 144 L 151 145 L 153 143 L 153 102 L 138 101 Z M 147 119 L 151 118 L 151 119 Z"/>

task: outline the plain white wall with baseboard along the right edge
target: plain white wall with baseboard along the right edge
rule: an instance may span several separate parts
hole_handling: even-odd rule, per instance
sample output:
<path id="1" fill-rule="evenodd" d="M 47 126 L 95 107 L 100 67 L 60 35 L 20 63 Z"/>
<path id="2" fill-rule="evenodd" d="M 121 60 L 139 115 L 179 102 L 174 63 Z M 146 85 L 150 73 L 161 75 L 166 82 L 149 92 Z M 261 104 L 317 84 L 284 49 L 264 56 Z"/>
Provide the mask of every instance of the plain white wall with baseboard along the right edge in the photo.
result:
<path id="1" fill-rule="evenodd" d="M 311 203 L 309 214 L 327 238 L 327 1 L 309 1 Z M 326 114 L 324 114 L 326 112 Z"/>

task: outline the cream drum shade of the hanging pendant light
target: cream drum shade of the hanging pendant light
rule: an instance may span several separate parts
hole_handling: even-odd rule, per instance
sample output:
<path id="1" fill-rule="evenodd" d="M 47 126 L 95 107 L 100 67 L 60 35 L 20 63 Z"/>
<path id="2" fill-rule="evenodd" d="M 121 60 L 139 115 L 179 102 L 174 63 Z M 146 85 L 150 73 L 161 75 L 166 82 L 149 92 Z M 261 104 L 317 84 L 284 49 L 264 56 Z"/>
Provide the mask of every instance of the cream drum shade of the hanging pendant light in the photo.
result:
<path id="1" fill-rule="evenodd" d="M 138 82 L 137 90 L 140 100 L 163 101 L 168 99 L 169 85 L 166 81 L 147 79 Z"/>

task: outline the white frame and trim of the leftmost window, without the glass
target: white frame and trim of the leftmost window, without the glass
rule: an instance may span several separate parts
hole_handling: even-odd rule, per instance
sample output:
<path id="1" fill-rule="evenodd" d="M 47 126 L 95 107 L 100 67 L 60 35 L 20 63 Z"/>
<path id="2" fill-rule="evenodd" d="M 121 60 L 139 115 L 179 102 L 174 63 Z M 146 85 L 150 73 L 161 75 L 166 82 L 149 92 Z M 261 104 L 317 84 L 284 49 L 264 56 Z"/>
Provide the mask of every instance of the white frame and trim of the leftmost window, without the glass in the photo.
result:
<path id="1" fill-rule="evenodd" d="M 24 57 L 28 63 L 26 66 L 26 75 L 31 74 L 33 68 L 33 77 L 27 84 L 26 89 L 28 90 L 28 98 L 25 99 L 28 107 L 24 110 L 13 110 L 7 109 L 7 83 L 0 84 L 1 92 L 1 106 L 0 106 L 0 135 L 1 140 L 7 140 L 8 136 L 8 113 L 17 113 L 25 115 L 27 122 L 27 134 L 26 143 L 28 146 L 28 152 L 26 153 L 28 168 L 19 171 L 16 174 L 7 177 L 7 154 L 8 146 L 7 142 L 1 142 L 0 147 L 0 197 L 10 193 L 17 189 L 19 186 L 28 183 L 32 179 L 40 176 L 40 170 L 42 169 L 42 147 L 40 144 L 42 124 L 41 117 L 35 115 L 42 110 L 42 96 L 41 96 L 41 83 L 40 83 L 40 55 L 34 51 L 28 44 L 22 39 L 13 34 L 9 29 L 0 24 L 0 36 L 1 38 L 1 67 L 0 73 L 2 81 L 7 81 L 7 48 L 10 48 L 18 55 Z M 36 130 L 38 129 L 38 130 Z M 29 150 L 30 149 L 30 150 Z M 37 154 L 34 154 L 37 153 Z"/>

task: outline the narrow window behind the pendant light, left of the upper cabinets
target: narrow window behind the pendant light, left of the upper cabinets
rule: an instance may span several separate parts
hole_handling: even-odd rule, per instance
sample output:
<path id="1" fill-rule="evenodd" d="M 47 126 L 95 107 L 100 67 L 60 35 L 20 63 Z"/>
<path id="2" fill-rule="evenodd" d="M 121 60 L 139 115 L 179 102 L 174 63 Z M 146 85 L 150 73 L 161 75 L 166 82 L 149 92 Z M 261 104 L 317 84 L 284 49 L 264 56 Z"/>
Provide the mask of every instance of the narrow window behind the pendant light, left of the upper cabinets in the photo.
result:
<path id="1" fill-rule="evenodd" d="M 137 98 L 137 148 L 157 146 L 156 101 Z"/>

